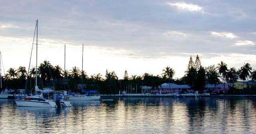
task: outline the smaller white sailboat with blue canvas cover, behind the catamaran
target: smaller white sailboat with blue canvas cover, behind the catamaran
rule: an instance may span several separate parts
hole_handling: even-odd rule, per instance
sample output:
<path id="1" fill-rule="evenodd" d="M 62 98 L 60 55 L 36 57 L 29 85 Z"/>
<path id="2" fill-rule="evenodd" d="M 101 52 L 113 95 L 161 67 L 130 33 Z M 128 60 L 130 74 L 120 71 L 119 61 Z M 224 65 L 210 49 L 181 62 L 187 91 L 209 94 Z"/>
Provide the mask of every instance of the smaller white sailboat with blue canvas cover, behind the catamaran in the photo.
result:
<path id="1" fill-rule="evenodd" d="M 97 90 L 94 91 L 84 91 L 84 85 L 83 85 L 83 59 L 84 59 L 84 44 L 83 44 L 83 50 L 82 50 L 82 84 L 81 84 L 81 92 L 85 93 L 83 95 L 70 95 L 69 100 L 83 100 L 83 101 L 89 101 L 89 100 L 100 100 L 100 92 Z"/>

